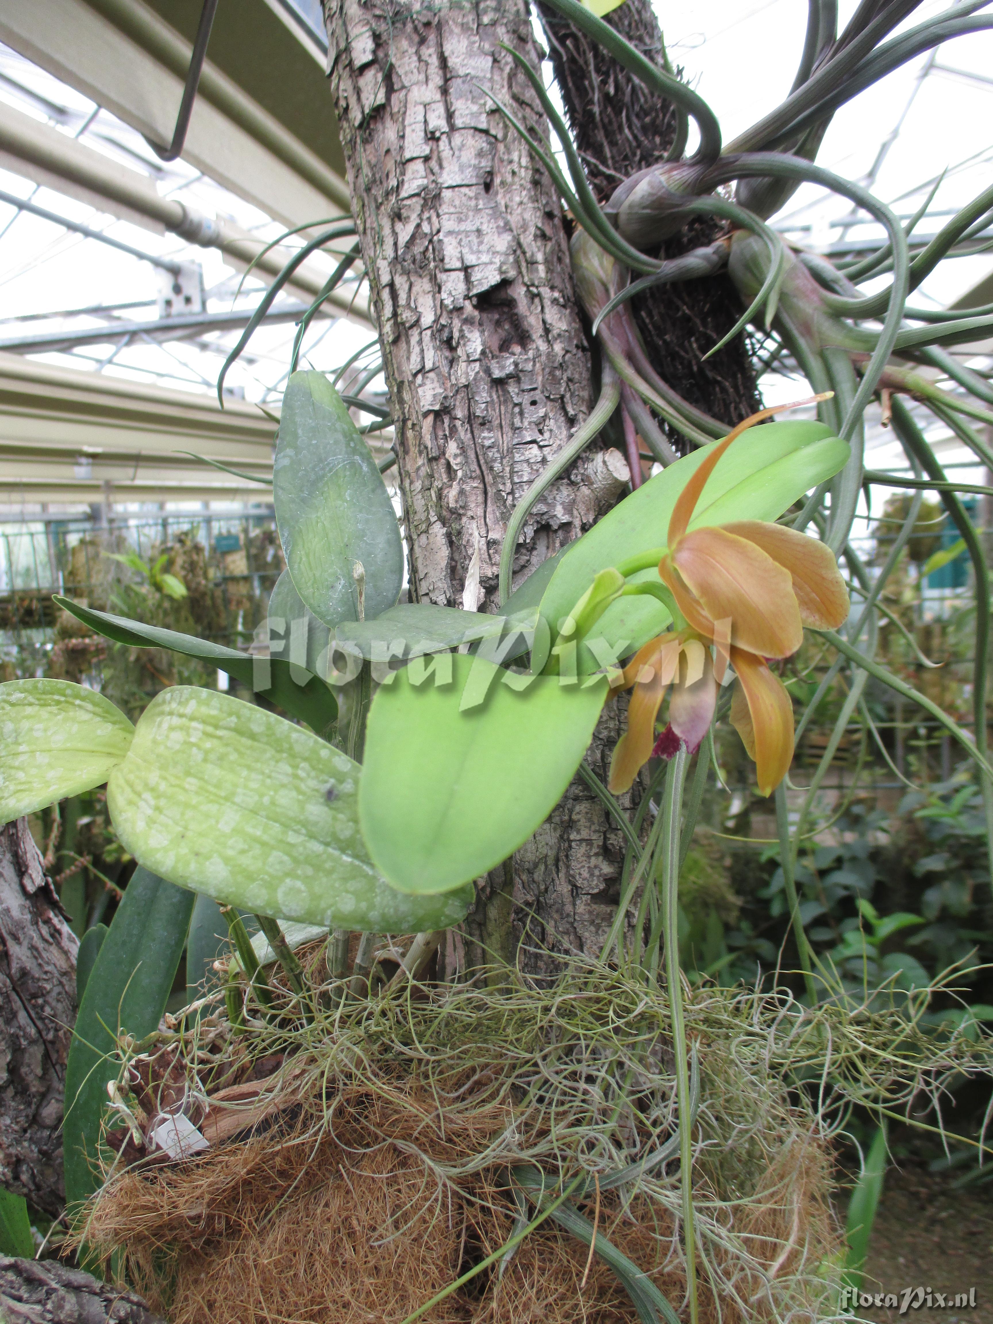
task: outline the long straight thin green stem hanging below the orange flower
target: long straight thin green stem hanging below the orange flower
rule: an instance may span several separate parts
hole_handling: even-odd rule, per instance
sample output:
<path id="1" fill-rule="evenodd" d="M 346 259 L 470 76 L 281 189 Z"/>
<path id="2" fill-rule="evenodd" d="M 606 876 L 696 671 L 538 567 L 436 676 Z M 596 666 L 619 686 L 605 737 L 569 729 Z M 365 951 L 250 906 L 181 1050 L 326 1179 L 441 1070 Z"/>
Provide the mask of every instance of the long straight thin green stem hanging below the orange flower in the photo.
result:
<path id="1" fill-rule="evenodd" d="M 673 1026 L 673 1055 L 675 1057 L 675 1092 L 679 1108 L 679 1184 L 683 1204 L 683 1243 L 686 1247 L 686 1291 L 690 1299 L 690 1324 L 696 1324 L 696 1235 L 692 1209 L 692 1128 L 690 1117 L 690 1058 L 683 1019 L 683 982 L 679 969 L 679 818 L 686 784 L 686 765 L 690 756 L 681 745 L 669 764 L 662 806 L 662 896 L 659 923 L 665 940 L 666 992 Z M 658 960 L 658 933 L 647 956 Z"/>

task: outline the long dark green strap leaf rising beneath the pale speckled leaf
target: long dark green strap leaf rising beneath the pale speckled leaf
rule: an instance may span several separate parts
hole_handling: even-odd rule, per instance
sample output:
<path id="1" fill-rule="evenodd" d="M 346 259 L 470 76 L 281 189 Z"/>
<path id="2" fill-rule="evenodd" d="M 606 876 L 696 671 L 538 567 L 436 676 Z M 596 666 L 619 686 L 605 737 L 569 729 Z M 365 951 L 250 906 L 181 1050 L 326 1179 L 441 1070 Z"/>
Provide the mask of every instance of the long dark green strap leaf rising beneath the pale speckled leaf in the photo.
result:
<path id="1" fill-rule="evenodd" d="M 192 892 L 136 869 L 86 980 L 65 1079 L 62 1153 L 70 1206 L 99 1185 L 95 1158 L 107 1083 L 117 1079 L 120 1066 L 114 1057 L 117 1037 L 127 1033 L 142 1039 L 158 1030 L 193 899 Z"/>

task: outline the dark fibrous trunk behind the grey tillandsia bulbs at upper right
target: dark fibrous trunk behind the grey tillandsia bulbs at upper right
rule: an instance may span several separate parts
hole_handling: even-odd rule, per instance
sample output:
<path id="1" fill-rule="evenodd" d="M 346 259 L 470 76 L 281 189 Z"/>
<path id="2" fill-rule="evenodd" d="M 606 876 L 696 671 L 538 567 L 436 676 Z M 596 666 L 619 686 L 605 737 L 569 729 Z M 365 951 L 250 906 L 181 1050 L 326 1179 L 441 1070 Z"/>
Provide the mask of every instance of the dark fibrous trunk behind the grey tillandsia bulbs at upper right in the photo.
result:
<path id="1" fill-rule="evenodd" d="M 673 106 L 552 9 L 540 9 L 576 147 L 594 193 L 606 200 L 629 175 L 665 158 L 675 136 Z M 606 23 L 650 60 L 662 62 L 662 32 L 651 0 L 625 0 Z M 718 221 L 696 220 L 669 240 L 659 256 L 678 257 L 710 244 L 720 229 Z M 744 336 L 706 363 L 703 355 L 741 311 L 726 275 L 658 286 L 634 301 L 634 318 L 658 373 L 690 404 L 728 424 L 760 408 Z M 679 449 L 687 449 L 678 433 L 669 432 Z"/>

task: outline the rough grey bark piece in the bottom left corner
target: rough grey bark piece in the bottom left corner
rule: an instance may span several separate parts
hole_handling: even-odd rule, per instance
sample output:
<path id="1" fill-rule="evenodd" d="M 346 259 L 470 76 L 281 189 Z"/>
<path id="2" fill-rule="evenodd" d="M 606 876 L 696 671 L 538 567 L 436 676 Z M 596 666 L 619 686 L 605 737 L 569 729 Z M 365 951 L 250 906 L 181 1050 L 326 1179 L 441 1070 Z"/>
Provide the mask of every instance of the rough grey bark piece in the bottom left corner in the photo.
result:
<path id="1" fill-rule="evenodd" d="M 5 1324 L 166 1324 L 140 1296 L 57 1260 L 0 1256 Z"/>

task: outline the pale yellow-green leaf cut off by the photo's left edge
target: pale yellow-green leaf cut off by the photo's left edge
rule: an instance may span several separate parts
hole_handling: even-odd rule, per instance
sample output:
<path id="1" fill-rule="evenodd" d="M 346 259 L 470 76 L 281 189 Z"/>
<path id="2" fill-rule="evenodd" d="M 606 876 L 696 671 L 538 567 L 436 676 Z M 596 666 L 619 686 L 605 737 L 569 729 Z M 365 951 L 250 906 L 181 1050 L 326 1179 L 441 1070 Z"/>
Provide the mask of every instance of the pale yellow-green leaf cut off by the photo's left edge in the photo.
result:
<path id="1" fill-rule="evenodd" d="M 135 728 L 102 694 L 70 681 L 0 685 L 0 822 L 99 786 Z"/>

